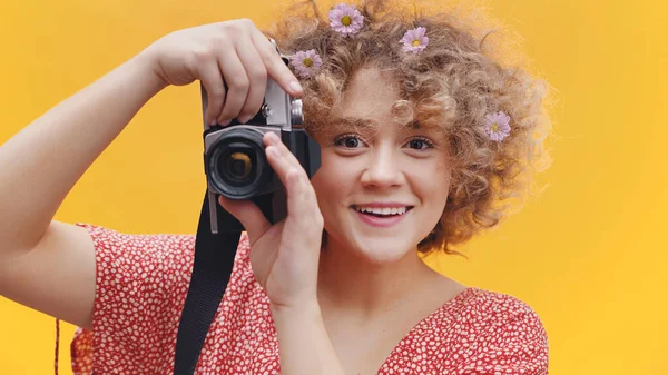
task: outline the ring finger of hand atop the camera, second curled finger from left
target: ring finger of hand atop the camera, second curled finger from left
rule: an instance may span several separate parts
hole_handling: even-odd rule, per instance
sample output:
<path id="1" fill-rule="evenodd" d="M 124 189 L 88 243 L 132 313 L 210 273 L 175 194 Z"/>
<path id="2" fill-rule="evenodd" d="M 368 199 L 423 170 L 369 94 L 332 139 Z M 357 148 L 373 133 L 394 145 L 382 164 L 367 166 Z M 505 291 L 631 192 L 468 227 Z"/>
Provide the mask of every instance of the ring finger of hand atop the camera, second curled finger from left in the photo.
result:
<path id="1" fill-rule="evenodd" d="M 246 69 L 244 69 L 236 52 L 220 53 L 218 63 L 223 72 L 223 79 L 227 83 L 227 97 L 225 98 L 225 107 L 218 115 L 218 124 L 227 125 L 242 110 L 248 95 L 249 81 Z"/>

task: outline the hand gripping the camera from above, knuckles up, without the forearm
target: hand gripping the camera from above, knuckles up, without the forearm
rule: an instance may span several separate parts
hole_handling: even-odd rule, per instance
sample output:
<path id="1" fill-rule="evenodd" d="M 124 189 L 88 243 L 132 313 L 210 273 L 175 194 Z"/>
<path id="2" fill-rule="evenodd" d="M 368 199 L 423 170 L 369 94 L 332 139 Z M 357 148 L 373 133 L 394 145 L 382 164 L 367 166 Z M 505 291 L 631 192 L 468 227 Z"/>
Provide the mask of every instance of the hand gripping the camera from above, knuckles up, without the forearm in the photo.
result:
<path id="1" fill-rule="evenodd" d="M 303 93 L 276 48 L 248 19 L 175 31 L 141 53 L 165 85 L 202 81 L 208 95 L 204 119 L 209 125 L 253 118 L 263 103 L 267 76 L 292 97 Z"/>

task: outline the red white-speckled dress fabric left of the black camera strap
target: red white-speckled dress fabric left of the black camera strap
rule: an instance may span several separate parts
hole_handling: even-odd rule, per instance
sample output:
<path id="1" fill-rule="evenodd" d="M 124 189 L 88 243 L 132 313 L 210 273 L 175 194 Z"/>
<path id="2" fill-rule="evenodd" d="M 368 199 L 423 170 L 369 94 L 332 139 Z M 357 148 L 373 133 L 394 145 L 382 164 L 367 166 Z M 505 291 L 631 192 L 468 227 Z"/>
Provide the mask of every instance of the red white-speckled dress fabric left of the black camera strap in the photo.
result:
<path id="1" fill-rule="evenodd" d="M 70 346 L 73 373 L 90 374 L 94 365 L 96 372 L 111 373 L 120 364 L 132 364 L 127 374 L 153 373 L 150 359 L 176 339 L 194 236 L 126 235 L 77 225 L 95 244 L 96 293 L 92 332 L 78 328 Z"/>

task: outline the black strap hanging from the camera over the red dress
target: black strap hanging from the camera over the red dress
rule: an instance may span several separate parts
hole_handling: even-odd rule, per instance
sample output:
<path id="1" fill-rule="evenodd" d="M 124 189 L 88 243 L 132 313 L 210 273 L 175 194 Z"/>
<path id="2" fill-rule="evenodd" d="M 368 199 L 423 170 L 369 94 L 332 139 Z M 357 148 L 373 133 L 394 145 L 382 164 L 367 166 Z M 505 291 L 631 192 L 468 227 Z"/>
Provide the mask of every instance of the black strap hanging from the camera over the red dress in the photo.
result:
<path id="1" fill-rule="evenodd" d="M 220 205 L 215 207 L 220 209 Z M 176 337 L 175 375 L 195 373 L 204 339 L 232 275 L 239 238 L 240 231 L 212 234 L 207 190 L 197 226 L 193 276 Z"/>

